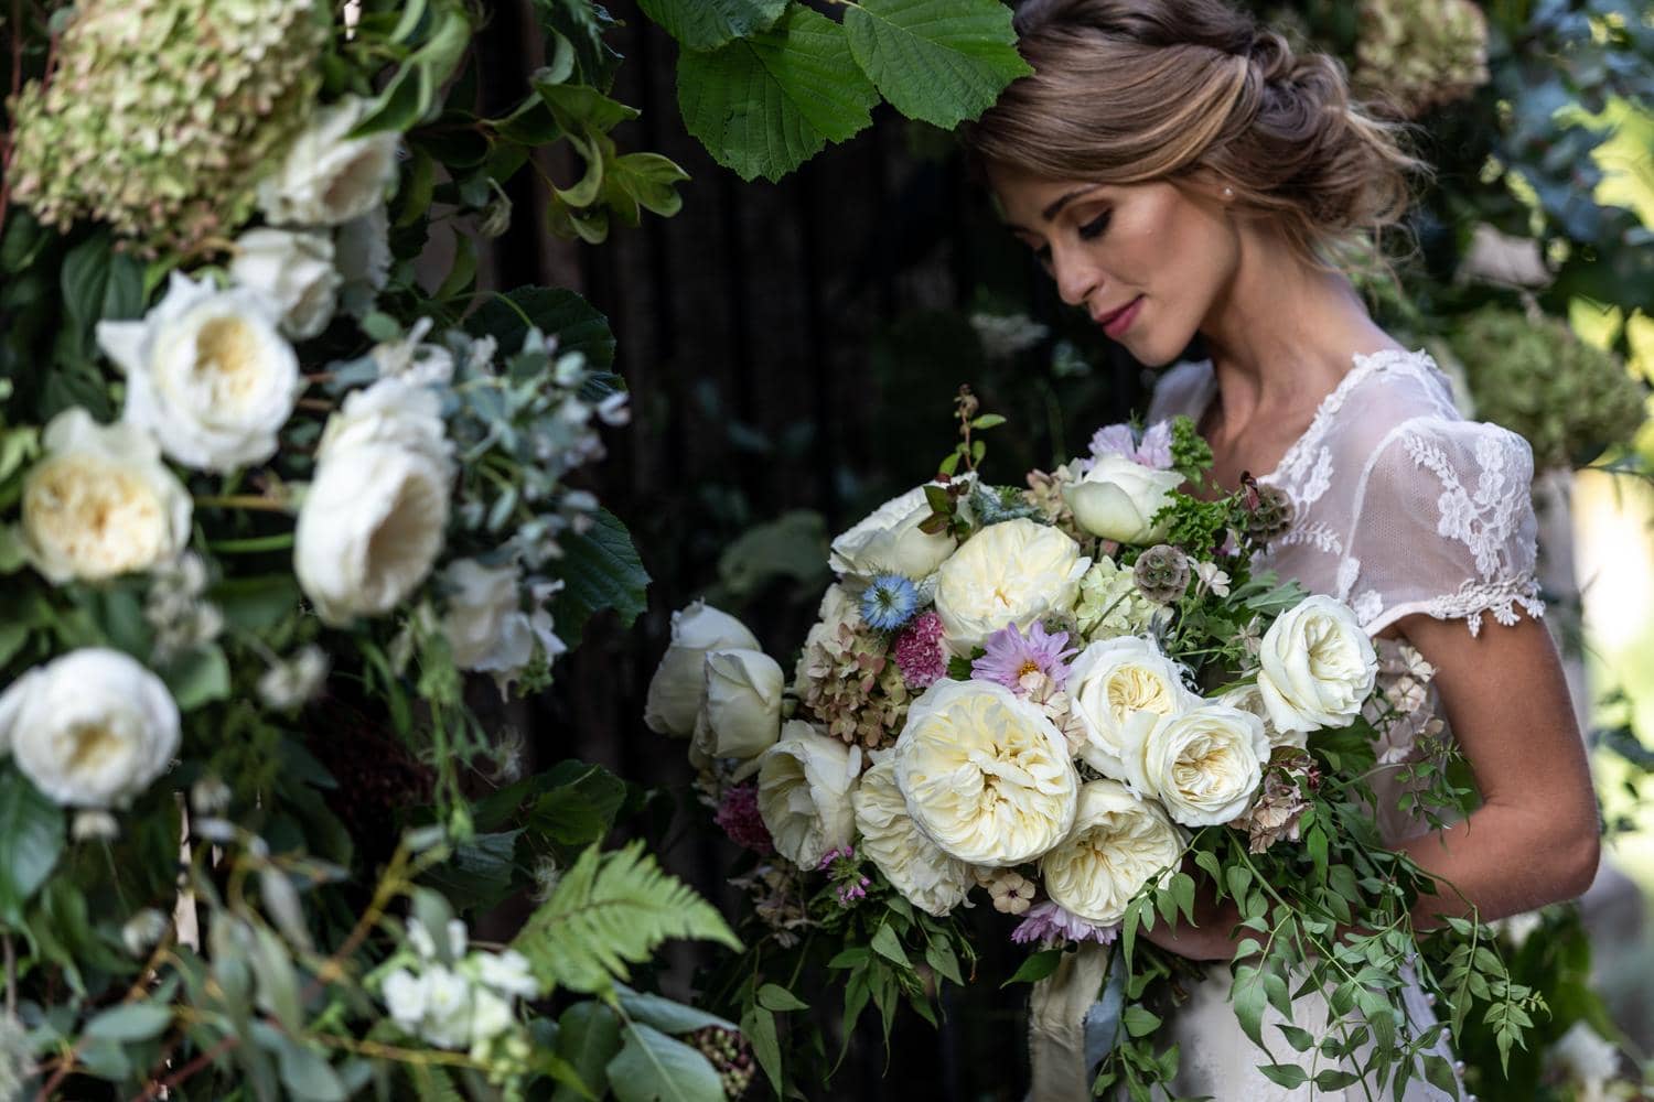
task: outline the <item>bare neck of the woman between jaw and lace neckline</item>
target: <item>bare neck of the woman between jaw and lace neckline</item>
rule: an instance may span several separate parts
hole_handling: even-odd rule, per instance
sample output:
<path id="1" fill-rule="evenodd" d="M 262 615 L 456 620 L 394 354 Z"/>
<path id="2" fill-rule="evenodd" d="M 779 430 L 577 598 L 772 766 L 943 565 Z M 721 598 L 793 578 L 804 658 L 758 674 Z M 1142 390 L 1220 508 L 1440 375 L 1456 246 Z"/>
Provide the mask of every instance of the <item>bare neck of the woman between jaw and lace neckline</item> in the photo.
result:
<path id="1" fill-rule="evenodd" d="M 1236 276 L 1201 334 L 1231 428 L 1313 410 L 1355 354 L 1398 347 L 1348 278 L 1307 264 L 1262 233 L 1242 233 Z"/>

